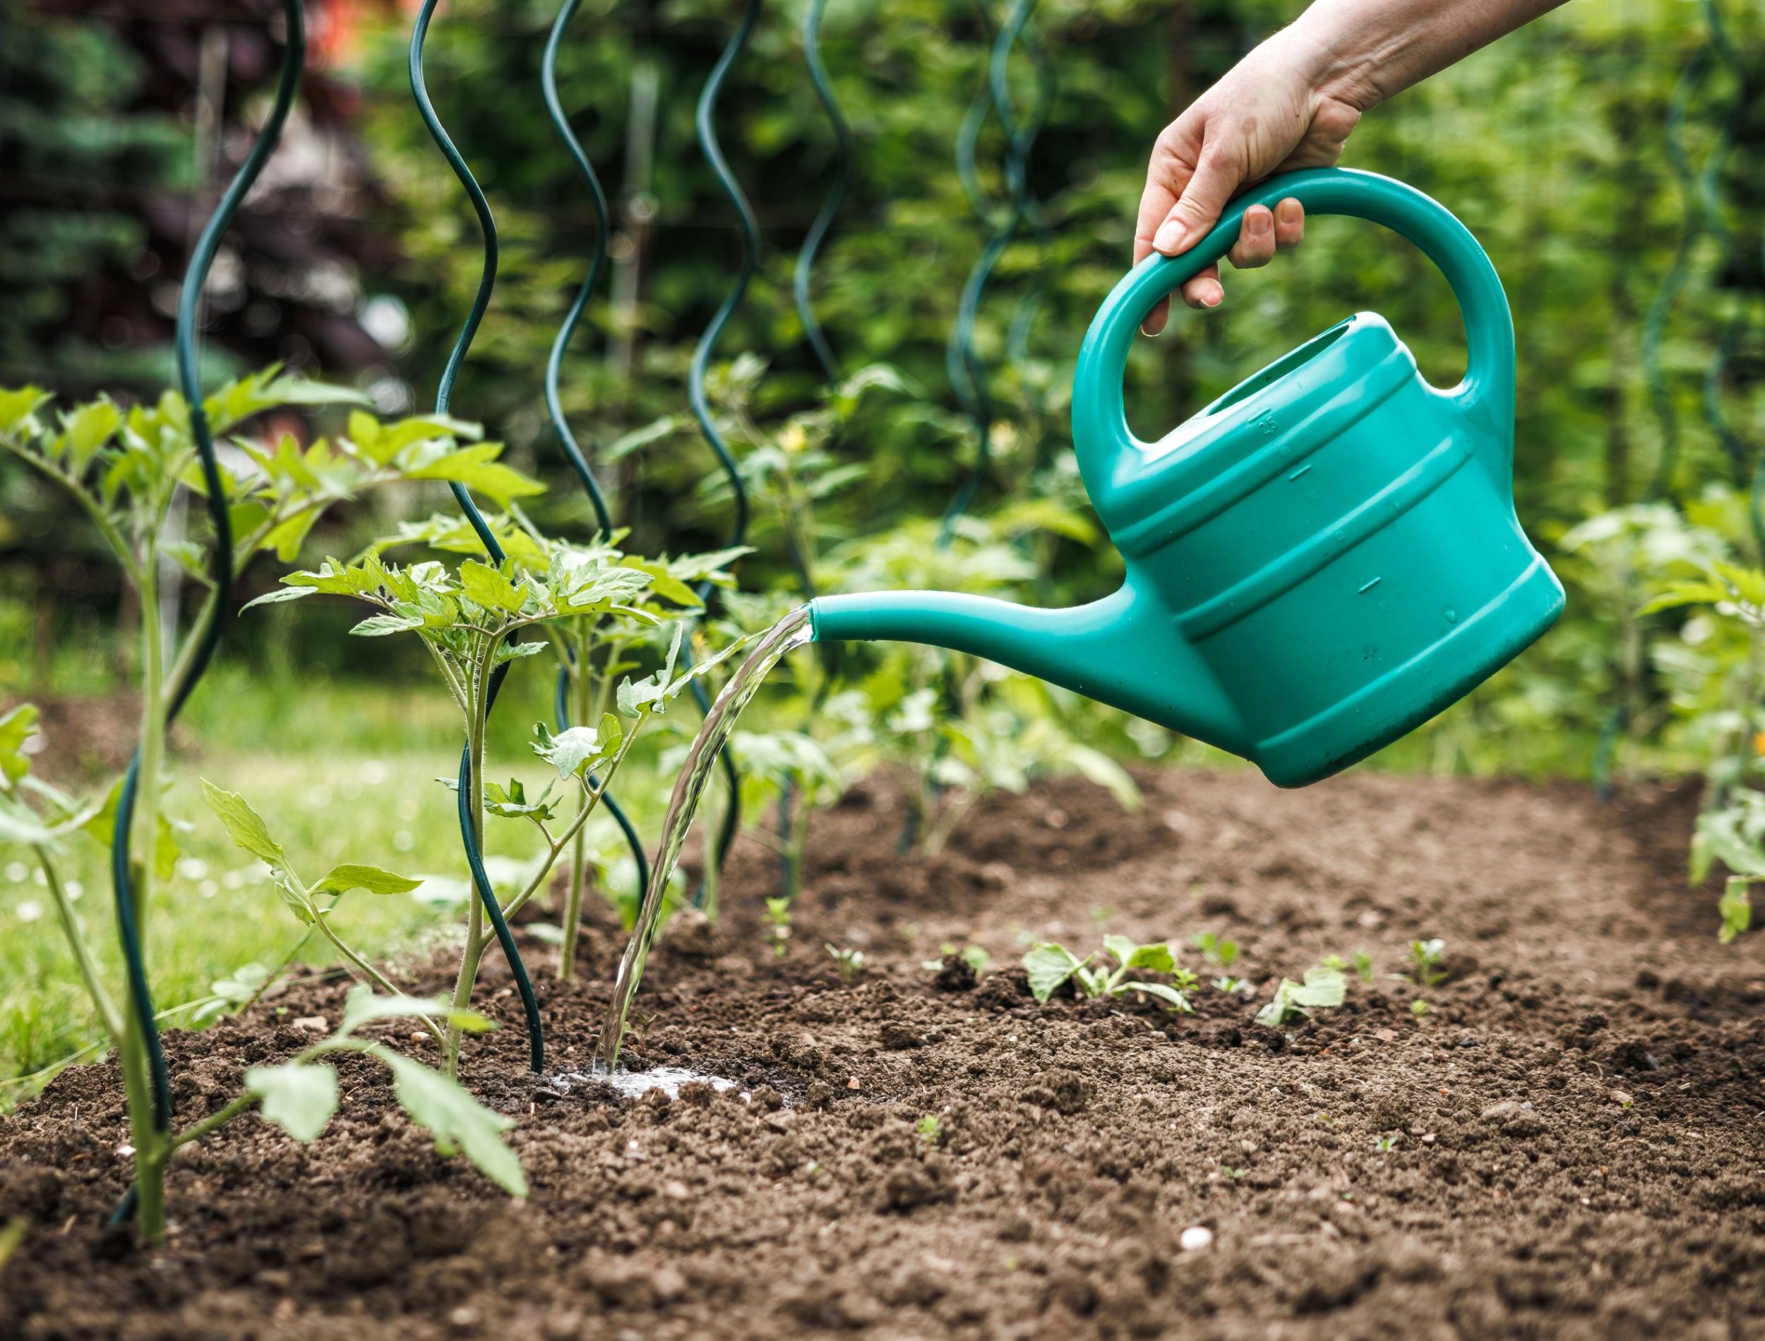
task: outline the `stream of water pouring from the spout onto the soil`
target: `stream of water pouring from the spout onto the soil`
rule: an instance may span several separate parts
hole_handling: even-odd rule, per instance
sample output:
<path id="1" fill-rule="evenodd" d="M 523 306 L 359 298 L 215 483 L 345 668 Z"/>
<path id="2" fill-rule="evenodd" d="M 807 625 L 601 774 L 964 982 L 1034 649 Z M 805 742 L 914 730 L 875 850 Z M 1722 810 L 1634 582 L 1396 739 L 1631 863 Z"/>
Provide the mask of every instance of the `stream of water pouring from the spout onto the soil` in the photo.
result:
<path id="1" fill-rule="evenodd" d="M 784 619 L 766 630 L 748 658 L 736 669 L 717 695 L 711 711 L 704 715 L 704 725 L 687 752 L 687 762 L 674 780 L 674 794 L 667 803 L 667 815 L 662 819 L 662 845 L 657 859 L 650 866 L 650 888 L 644 889 L 644 902 L 637 909 L 637 926 L 625 946 L 620 960 L 620 976 L 612 981 L 612 1004 L 607 1008 L 607 1022 L 600 1030 L 600 1043 L 595 1045 L 595 1071 L 612 1075 L 620 1060 L 620 1043 L 625 1039 L 625 1018 L 632 1009 L 632 997 L 644 976 L 644 963 L 650 960 L 650 948 L 662 928 L 662 903 L 667 893 L 667 880 L 680 863 L 680 849 L 687 842 L 687 829 L 692 828 L 704 799 L 704 789 L 711 782 L 711 766 L 722 752 L 729 732 L 736 729 L 741 711 L 752 702 L 761 683 L 787 653 L 808 646 L 815 637 L 815 628 L 808 621 L 808 607 L 800 605 Z"/>

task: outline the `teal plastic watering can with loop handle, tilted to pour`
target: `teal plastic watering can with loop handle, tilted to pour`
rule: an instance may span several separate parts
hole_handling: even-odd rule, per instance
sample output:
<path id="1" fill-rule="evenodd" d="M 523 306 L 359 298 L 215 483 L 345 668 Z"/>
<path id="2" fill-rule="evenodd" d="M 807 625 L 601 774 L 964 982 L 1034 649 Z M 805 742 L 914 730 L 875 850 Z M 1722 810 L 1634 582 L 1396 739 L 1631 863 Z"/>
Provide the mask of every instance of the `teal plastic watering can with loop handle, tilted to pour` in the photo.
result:
<path id="1" fill-rule="evenodd" d="M 1384 224 L 1440 266 L 1465 318 L 1465 379 L 1430 386 L 1386 319 L 1359 312 L 1142 443 L 1123 411 L 1140 321 L 1225 256 L 1246 208 L 1288 196 Z M 1562 611 L 1514 515 L 1507 296 L 1465 226 L 1401 182 L 1290 173 L 1183 256 L 1137 265 L 1078 351 L 1073 445 L 1126 565 L 1115 595 L 1070 611 L 941 591 L 819 596 L 815 641 L 985 656 L 1303 787 L 1468 693 Z"/>

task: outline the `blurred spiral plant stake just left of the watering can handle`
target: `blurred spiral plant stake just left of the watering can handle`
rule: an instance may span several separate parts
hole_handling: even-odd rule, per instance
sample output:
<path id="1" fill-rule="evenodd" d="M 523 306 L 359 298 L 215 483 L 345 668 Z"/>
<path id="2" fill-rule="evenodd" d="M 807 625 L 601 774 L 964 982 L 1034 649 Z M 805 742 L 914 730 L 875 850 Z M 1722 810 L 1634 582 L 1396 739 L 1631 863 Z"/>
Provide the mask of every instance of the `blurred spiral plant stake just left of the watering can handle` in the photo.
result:
<path id="1" fill-rule="evenodd" d="M 1022 35 L 1024 26 L 1029 23 L 1029 16 L 1034 7 L 1036 0 L 1017 0 L 1011 5 L 1011 12 L 1006 16 L 1004 26 L 1001 26 L 999 35 L 994 37 L 992 56 L 988 62 L 987 94 L 994 113 L 999 116 L 999 125 L 1006 132 L 1008 143 L 1004 159 L 1008 199 L 1001 221 L 994 226 L 992 236 L 988 236 L 980 259 L 974 263 L 974 268 L 969 270 L 969 277 L 962 286 L 962 300 L 957 305 L 957 321 L 955 326 L 951 326 L 950 342 L 944 348 L 944 367 L 950 374 L 951 385 L 955 386 L 957 401 L 962 404 L 962 411 L 974 425 L 976 441 L 974 464 L 969 466 L 967 476 L 957 489 L 950 506 L 944 510 L 944 524 L 939 533 L 939 543 L 950 542 L 957 519 L 962 517 L 974 503 L 974 494 L 980 492 L 981 480 L 987 478 L 987 466 L 992 459 L 990 438 L 994 408 L 992 397 L 987 390 L 987 371 L 974 351 L 974 321 L 980 316 L 981 296 L 987 291 L 987 284 L 992 281 L 994 266 L 999 263 L 999 258 L 1011 243 L 1018 224 L 1025 217 L 1029 152 L 1034 146 L 1041 124 L 1040 115 L 1031 116 L 1024 124 L 1017 122 L 1017 113 L 1011 108 L 1010 65 L 1011 48 Z M 957 173 L 962 178 L 962 189 L 967 194 L 969 203 L 974 205 L 981 219 L 987 219 L 990 210 L 987 208 L 985 196 L 980 189 L 980 176 L 974 169 L 974 146 L 983 122 L 985 106 L 980 99 L 976 99 L 976 102 L 969 106 L 969 113 L 962 122 L 962 131 L 957 136 Z"/>

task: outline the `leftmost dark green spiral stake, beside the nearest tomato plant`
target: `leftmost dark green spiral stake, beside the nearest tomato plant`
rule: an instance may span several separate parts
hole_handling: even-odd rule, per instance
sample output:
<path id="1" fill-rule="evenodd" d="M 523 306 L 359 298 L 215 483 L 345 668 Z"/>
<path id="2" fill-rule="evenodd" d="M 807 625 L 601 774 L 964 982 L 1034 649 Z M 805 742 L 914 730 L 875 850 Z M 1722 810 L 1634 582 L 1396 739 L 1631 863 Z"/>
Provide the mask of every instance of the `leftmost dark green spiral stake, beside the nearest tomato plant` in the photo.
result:
<path id="1" fill-rule="evenodd" d="M 221 203 L 196 240 L 196 251 L 191 254 L 191 266 L 178 293 L 178 388 L 184 392 L 184 399 L 191 409 L 191 438 L 196 441 L 196 455 L 201 461 L 208 517 L 215 529 L 214 559 L 210 561 L 214 593 L 203 607 L 201 637 L 182 678 L 171 690 L 162 729 L 171 727 L 196 688 L 196 683 L 214 662 L 215 649 L 221 646 L 221 612 L 233 593 L 233 522 L 228 515 L 226 480 L 222 480 L 221 466 L 215 461 L 215 439 L 208 427 L 208 411 L 203 408 L 201 369 L 196 349 L 198 316 L 203 286 L 208 282 L 208 270 L 214 266 L 215 252 L 221 249 L 221 238 L 226 236 L 233 215 L 238 214 L 240 201 L 245 199 L 245 192 L 251 191 L 263 171 L 263 164 L 275 148 L 275 141 L 282 134 L 282 124 L 288 120 L 288 111 L 300 92 L 300 72 L 307 58 L 305 11 L 300 0 L 282 0 L 282 18 L 288 23 L 288 46 L 282 49 L 282 78 L 275 86 L 275 104 L 270 108 L 270 118 L 265 122 L 263 132 L 251 146 L 245 162 L 240 164 L 238 173 L 228 185 L 226 194 L 221 196 Z M 146 785 L 157 787 L 159 778 L 150 776 Z M 154 993 L 146 983 L 146 958 L 141 949 L 141 923 L 146 918 L 146 909 L 139 903 L 134 877 L 129 870 L 129 836 L 134 829 L 134 805 L 139 787 L 141 750 L 136 750 L 116 796 L 116 828 L 111 833 L 111 889 L 116 903 L 116 939 L 122 946 L 124 974 L 129 979 L 127 1030 L 146 1057 L 154 1099 L 154 1131 L 166 1135 L 171 1131 L 171 1076 L 166 1069 L 166 1048 L 159 1038 L 159 1025 L 154 1022 Z M 148 833 L 145 842 L 146 856 L 143 861 L 152 861 L 155 835 Z M 139 1184 L 136 1182 L 131 1184 L 129 1193 L 111 1214 L 111 1223 L 120 1225 L 132 1219 L 138 1203 Z"/>

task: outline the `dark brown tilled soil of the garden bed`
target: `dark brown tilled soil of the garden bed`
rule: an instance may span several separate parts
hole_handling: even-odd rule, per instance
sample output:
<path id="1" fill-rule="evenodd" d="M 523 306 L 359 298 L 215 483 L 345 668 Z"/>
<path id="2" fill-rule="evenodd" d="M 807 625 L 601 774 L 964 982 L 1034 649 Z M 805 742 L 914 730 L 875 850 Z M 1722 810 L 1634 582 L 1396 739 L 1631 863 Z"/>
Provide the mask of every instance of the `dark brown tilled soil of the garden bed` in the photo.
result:
<path id="1" fill-rule="evenodd" d="M 69 1073 L 0 1126 L 0 1223 L 28 1226 L 0 1336 L 1765 1336 L 1765 937 L 1717 946 L 1686 889 L 1689 790 L 1145 787 L 1140 815 L 1077 783 L 1001 801 L 937 861 L 898 856 L 898 806 L 861 794 L 815 829 L 784 962 L 755 916 L 775 866 L 747 850 L 725 925 L 651 965 L 632 1060 L 748 1101 L 545 1092 L 494 963 L 512 1027 L 469 1080 L 519 1119 L 526 1203 L 362 1064 L 321 1142 L 247 1115 L 182 1159 L 169 1244 L 134 1249 L 99 1226 L 127 1177 L 115 1071 Z M 1257 997 L 1204 990 L 1183 1022 L 1036 1006 L 1022 944 L 1089 949 L 1105 919 L 1230 933 Z M 1387 978 L 1417 937 L 1449 948 L 1424 1018 Z M 934 974 L 943 940 L 1004 969 Z M 842 985 L 822 942 L 868 972 Z M 1251 1023 L 1280 974 L 1363 948 L 1378 976 L 1343 1008 Z M 560 1068 L 590 1057 L 616 951 L 600 921 L 598 976 L 542 988 Z M 171 1036 L 180 1119 L 341 992 Z"/>

